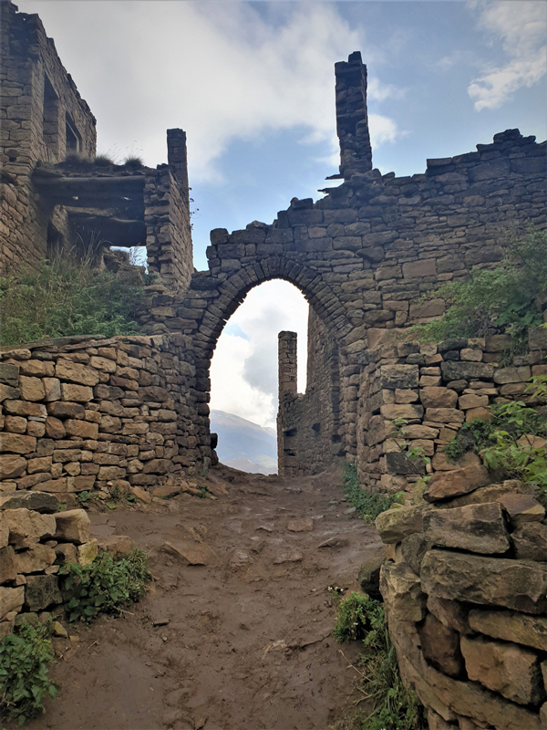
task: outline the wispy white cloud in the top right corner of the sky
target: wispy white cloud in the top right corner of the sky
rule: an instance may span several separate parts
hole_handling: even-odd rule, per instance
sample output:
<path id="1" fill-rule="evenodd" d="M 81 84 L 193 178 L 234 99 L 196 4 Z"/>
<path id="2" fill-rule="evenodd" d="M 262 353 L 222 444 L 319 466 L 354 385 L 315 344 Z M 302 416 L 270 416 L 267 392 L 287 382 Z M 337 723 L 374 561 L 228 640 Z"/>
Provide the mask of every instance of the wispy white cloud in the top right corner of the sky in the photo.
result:
<path id="1" fill-rule="evenodd" d="M 490 43 L 501 41 L 507 58 L 503 65 L 482 69 L 468 88 L 475 110 L 499 109 L 522 87 L 532 87 L 547 71 L 544 43 L 546 5 L 537 0 L 469 0 L 479 15 L 479 27 Z"/>

